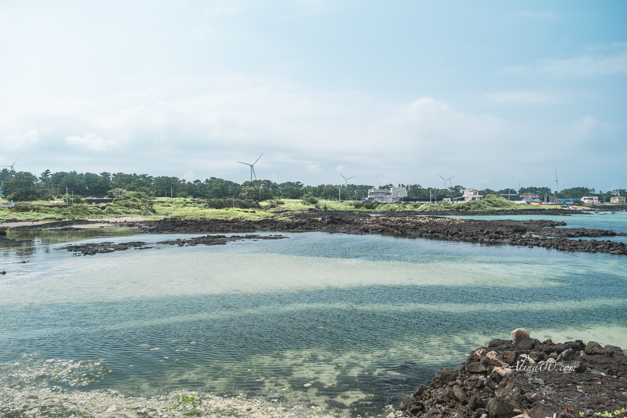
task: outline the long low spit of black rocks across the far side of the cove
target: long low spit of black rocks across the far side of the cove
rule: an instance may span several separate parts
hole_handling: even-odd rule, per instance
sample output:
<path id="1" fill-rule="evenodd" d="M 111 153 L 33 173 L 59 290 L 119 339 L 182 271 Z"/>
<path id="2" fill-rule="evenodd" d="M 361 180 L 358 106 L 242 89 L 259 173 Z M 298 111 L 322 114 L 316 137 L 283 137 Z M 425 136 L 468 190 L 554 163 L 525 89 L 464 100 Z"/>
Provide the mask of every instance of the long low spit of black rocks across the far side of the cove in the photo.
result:
<path id="1" fill-rule="evenodd" d="M 597 240 L 614 237 L 610 230 L 557 228 L 566 222 L 552 220 L 475 220 L 435 216 L 383 215 L 371 217 L 362 212 L 309 211 L 285 213 L 280 218 L 262 220 L 164 219 L 154 222 L 129 222 L 144 232 L 248 232 L 248 231 L 324 231 L 342 233 L 381 233 L 409 237 L 439 238 L 482 244 L 508 244 L 544 247 L 564 251 L 626 254 L 624 242 Z M 593 237 L 590 240 L 568 239 Z"/>

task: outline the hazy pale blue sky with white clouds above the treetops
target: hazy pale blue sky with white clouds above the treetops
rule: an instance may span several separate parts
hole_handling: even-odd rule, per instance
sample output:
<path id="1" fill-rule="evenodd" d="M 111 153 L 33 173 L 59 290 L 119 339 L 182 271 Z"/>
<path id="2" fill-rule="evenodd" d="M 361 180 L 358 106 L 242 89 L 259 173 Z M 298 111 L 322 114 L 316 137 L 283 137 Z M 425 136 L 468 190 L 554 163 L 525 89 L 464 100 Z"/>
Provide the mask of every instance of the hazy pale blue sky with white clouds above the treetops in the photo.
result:
<path id="1" fill-rule="evenodd" d="M 627 187 L 624 1 L 11 1 L 0 165 Z"/>

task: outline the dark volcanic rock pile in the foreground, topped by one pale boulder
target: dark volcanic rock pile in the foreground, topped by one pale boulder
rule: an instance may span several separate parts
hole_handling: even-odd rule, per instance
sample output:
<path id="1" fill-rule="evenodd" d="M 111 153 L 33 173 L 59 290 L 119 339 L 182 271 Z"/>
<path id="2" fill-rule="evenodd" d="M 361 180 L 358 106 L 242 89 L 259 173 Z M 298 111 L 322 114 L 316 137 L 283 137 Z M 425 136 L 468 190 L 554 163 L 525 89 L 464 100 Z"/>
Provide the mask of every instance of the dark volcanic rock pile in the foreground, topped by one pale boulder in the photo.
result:
<path id="1" fill-rule="evenodd" d="M 627 408 L 627 358 L 595 341 L 553 343 L 519 328 L 435 375 L 401 405 L 424 418 L 596 417 Z M 623 410 L 623 412 L 620 412 Z M 596 415 L 595 415 L 596 414 Z"/>

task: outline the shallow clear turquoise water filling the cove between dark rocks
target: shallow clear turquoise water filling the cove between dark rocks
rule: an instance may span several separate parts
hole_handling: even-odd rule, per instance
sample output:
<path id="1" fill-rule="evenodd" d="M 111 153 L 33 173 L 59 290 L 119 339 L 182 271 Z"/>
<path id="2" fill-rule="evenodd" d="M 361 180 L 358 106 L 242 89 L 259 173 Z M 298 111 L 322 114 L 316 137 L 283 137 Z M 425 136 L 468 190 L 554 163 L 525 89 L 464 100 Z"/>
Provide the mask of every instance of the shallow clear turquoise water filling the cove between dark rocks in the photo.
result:
<path id="1" fill-rule="evenodd" d="M 627 346 L 621 255 L 321 232 L 59 250 L 198 236 L 134 234 L 10 233 L 36 242 L 1 253 L 0 362 L 102 359 L 110 372 L 83 390 L 209 390 L 381 415 L 514 328 Z"/>

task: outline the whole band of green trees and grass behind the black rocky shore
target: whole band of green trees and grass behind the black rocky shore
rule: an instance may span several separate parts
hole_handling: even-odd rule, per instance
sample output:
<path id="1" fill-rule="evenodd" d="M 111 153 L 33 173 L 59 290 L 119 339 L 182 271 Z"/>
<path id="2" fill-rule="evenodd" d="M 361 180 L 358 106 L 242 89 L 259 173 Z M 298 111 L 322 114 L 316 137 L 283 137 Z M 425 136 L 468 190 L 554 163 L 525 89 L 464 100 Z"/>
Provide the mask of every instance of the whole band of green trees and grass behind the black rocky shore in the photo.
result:
<path id="1" fill-rule="evenodd" d="M 149 176 L 125 173 L 51 173 L 40 176 L 26 171 L 0 170 L 3 190 L 2 203 L 13 200 L 15 208 L 0 208 L 0 220 L 56 220 L 65 218 L 117 217 L 181 217 L 258 220 L 273 217 L 277 212 L 309 210 L 347 210 L 358 212 L 415 211 L 482 211 L 527 209 L 540 210 L 555 206 L 524 206 L 503 199 L 499 195 L 513 190 L 486 189 L 481 201 L 446 203 L 443 198 L 461 195 L 462 186 L 446 189 L 426 188 L 418 184 L 398 185 L 408 188 L 408 196 L 419 200 L 436 198 L 433 205 L 400 203 L 381 205 L 361 203 L 371 185 L 319 185 L 303 183 L 274 183 L 270 180 L 235 183 L 211 177 L 204 181 L 186 181 L 177 177 Z M 394 185 L 384 185 L 389 188 Z M 339 201 L 339 192 L 342 201 Z M 520 193 L 551 194 L 549 188 L 520 188 Z M 579 198 L 582 195 L 605 197 L 627 195 L 624 189 L 596 193 L 589 188 L 571 188 L 557 193 L 557 198 Z M 88 199 L 90 196 L 90 199 Z M 107 198 L 105 198 L 107 196 Z M 173 197 L 174 196 L 174 197 Z M 93 203 L 92 203 L 93 202 Z M 607 208 L 606 206 L 605 208 Z"/>

